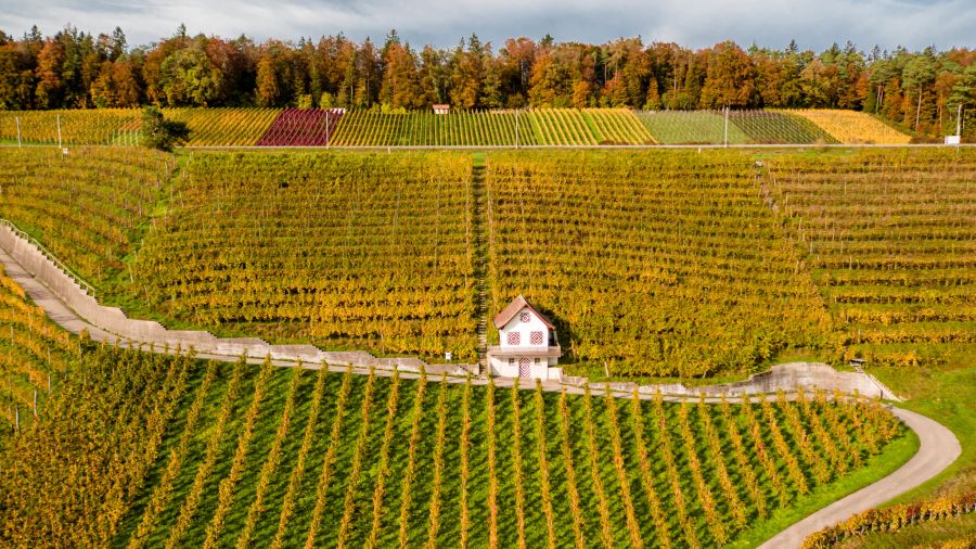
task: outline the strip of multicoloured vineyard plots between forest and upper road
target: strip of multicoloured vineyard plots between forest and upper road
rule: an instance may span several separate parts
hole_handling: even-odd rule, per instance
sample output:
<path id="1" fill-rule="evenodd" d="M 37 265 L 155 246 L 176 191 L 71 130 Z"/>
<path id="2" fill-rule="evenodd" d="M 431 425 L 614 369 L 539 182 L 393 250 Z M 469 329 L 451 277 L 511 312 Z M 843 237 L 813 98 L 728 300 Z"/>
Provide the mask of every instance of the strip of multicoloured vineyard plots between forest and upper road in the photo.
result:
<path id="1" fill-rule="evenodd" d="M 164 108 L 191 146 L 598 146 L 907 143 L 866 113 L 838 110 L 635 112 L 626 108 L 409 111 Z M 329 120 L 328 125 L 324 123 Z M 70 145 L 139 143 L 137 110 L 0 111 L 0 139 Z M 326 127 L 328 126 L 328 127 Z"/>

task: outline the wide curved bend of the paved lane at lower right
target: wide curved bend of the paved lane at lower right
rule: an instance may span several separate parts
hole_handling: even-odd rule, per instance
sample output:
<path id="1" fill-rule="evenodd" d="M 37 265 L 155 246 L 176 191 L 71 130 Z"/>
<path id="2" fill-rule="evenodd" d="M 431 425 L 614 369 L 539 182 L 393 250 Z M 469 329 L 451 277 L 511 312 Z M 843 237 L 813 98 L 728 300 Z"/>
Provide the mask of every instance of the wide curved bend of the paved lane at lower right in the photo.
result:
<path id="1" fill-rule="evenodd" d="M 844 522 L 851 515 L 884 505 L 939 474 L 962 452 L 959 439 L 940 423 L 921 413 L 892 408 L 891 412 L 920 438 L 919 451 L 898 471 L 874 484 L 835 501 L 762 544 L 760 549 L 795 548 L 804 538 L 827 526 Z"/>

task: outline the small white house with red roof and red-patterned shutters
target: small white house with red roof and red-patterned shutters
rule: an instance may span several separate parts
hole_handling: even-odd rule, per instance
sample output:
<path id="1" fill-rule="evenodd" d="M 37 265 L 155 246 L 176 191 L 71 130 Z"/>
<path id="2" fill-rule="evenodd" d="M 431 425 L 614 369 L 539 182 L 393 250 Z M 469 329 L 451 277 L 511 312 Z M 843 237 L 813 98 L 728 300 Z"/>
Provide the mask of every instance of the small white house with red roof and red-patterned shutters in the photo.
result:
<path id="1" fill-rule="evenodd" d="M 499 345 L 488 347 L 488 368 L 492 375 L 540 380 L 558 380 L 562 368 L 555 368 L 563 355 L 556 341 L 555 327 L 525 297 L 512 299 L 495 317 Z"/>

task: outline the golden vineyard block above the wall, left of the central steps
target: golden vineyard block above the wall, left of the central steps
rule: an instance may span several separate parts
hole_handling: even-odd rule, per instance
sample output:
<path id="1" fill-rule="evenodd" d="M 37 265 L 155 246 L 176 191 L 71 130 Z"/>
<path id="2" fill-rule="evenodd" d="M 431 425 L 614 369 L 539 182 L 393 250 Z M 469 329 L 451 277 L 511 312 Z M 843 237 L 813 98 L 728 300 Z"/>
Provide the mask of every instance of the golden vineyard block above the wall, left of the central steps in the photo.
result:
<path id="1" fill-rule="evenodd" d="M 474 359 L 463 154 L 197 153 L 132 264 L 178 322 Z"/>

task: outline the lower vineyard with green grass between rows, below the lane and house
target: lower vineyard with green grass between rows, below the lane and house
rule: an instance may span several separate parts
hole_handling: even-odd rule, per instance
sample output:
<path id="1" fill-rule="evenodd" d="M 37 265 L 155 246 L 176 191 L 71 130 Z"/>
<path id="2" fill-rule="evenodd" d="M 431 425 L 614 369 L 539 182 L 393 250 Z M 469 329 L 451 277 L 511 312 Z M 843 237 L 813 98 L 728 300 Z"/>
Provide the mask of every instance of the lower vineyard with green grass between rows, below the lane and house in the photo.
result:
<path id="1" fill-rule="evenodd" d="M 2 455 L 7 547 L 705 547 L 904 442 L 822 394 L 673 405 L 105 347 L 78 366 Z"/>

